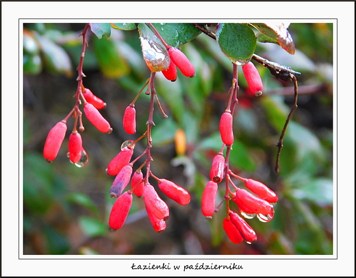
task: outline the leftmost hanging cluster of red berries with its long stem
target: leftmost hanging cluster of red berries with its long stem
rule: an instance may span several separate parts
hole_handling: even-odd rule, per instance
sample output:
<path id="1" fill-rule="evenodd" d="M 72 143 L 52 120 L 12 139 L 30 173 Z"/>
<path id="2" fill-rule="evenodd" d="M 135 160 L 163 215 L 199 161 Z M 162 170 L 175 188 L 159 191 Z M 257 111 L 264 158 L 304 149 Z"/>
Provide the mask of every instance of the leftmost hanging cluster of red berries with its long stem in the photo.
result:
<path id="1" fill-rule="evenodd" d="M 90 91 L 90 89 L 84 87 L 83 85 L 83 77 L 85 77 L 85 74 L 83 72 L 83 61 L 86 46 L 88 44 L 86 38 L 89 27 L 90 25 L 87 24 L 84 28 L 84 31 L 81 33 L 81 36 L 83 36 L 83 46 L 81 48 L 81 57 L 79 60 L 79 66 L 77 68 L 78 86 L 77 92 L 75 92 L 74 95 L 75 105 L 71 112 L 68 113 L 68 115 L 62 121 L 58 122 L 57 124 L 55 124 L 55 126 L 53 126 L 53 128 L 49 131 L 47 139 L 44 143 L 43 156 L 49 163 L 51 163 L 57 157 L 58 152 L 60 151 L 60 147 L 64 141 L 64 137 L 66 137 L 67 120 L 69 117 L 73 116 L 73 118 L 75 119 L 75 123 L 73 126 L 72 133 L 71 135 L 69 135 L 68 139 L 67 156 L 69 158 L 69 161 L 71 161 L 71 163 L 74 163 L 78 167 L 84 167 L 88 164 L 89 156 L 86 153 L 86 150 L 84 150 L 83 148 L 81 135 L 80 133 L 78 133 L 77 130 L 77 126 L 79 124 L 79 131 L 84 131 L 84 125 L 81 119 L 82 112 L 79 109 L 79 105 L 81 105 L 81 100 L 83 100 L 84 103 L 84 114 L 86 115 L 89 122 L 102 133 L 112 132 L 112 128 L 109 122 L 107 122 L 107 120 L 105 120 L 103 115 L 101 115 L 101 113 L 99 112 L 99 109 L 105 109 L 106 103 L 97 96 L 95 96 Z"/>

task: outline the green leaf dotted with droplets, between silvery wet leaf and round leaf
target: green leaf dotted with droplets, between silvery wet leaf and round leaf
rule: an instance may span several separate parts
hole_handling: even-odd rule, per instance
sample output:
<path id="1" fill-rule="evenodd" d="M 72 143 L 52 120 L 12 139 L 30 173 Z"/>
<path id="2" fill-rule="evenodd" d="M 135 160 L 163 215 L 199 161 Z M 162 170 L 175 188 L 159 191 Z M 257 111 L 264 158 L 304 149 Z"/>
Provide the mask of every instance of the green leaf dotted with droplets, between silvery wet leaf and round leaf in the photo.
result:
<path id="1" fill-rule="evenodd" d="M 152 25 L 160 33 L 166 44 L 177 48 L 190 42 L 201 33 L 191 23 L 153 23 Z"/>

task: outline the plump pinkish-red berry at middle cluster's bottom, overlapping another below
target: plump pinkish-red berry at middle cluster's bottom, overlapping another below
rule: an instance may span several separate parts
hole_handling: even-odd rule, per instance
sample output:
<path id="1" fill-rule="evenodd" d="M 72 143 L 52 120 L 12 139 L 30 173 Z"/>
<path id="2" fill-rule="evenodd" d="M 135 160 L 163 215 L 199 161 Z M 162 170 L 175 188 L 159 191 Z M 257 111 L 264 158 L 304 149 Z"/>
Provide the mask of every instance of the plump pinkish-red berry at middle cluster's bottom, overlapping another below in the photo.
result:
<path id="1" fill-rule="evenodd" d="M 163 219 L 164 221 L 168 219 L 169 208 L 151 184 L 144 186 L 143 199 L 147 213 L 152 213 L 157 219 Z"/>

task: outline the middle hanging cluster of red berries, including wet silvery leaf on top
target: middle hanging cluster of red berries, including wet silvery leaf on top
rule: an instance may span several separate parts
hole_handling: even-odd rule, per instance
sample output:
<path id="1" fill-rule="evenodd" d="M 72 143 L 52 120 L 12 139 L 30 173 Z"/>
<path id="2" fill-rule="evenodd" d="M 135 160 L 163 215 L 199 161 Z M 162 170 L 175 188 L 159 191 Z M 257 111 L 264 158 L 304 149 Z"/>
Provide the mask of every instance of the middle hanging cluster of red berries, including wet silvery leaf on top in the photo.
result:
<path id="1" fill-rule="evenodd" d="M 151 27 L 153 26 L 151 25 Z M 157 33 L 157 30 L 155 30 L 154 27 L 153 30 Z M 158 33 L 157 36 L 159 36 Z M 157 178 L 151 171 L 151 161 L 153 161 L 151 156 L 153 143 L 151 130 L 154 125 L 154 100 L 157 100 L 157 104 L 160 107 L 163 117 L 168 117 L 166 113 L 164 113 L 155 91 L 155 74 L 156 72 L 162 72 L 166 79 L 175 81 L 177 79 L 177 68 L 179 68 L 179 70 L 181 70 L 183 75 L 186 77 L 194 77 L 195 69 L 186 55 L 184 55 L 179 49 L 166 44 L 162 38 L 160 38 L 160 40 L 164 46 L 162 46 L 158 40 L 150 40 L 148 43 L 148 38 L 142 35 L 142 33 L 140 39 L 142 42 L 144 61 L 146 61 L 147 66 L 151 70 L 151 77 L 144 84 L 144 87 L 142 87 L 136 98 L 134 98 L 125 109 L 125 113 L 123 115 L 123 127 L 126 133 L 130 135 L 136 133 L 135 102 L 147 85 L 148 88 L 145 94 L 151 97 L 149 119 L 147 120 L 147 130 L 144 134 L 136 139 L 136 141 L 125 141 L 123 145 L 121 145 L 120 152 L 112 159 L 112 161 L 110 161 L 109 165 L 107 165 L 107 174 L 116 176 L 110 188 L 110 197 L 116 199 L 116 201 L 114 202 L 110 212 L 109 225 L 112 230 L 118 230 L 120 227 L 123 227 L 127 215 L 129 214 L 129 209 L 132 205 L 132 195 L 136 195 L 137 197 L 143 196 L 144 206 L 155 232 L 163 232 L 166 229 L 166 220 L 169 218 L 169 208 L 166 202 L 160 197 L 160 195 L 158 195 L 149 178 L 153 178 L 157 181 L 157 186 L 160 191 L 164 193 L 164 195 L 170 199 L 173 199 L 182 206 L 189 204 L 190 193 L 170 180 Z M 144 137 L 147 139 L 147 148 L 144 152 L 142 152 L 142 154 L 131 161 L 136 143 Z M 144 163 L 133 171 L 134 163 L 136 163 L 138 159 L 144 155 L 146 155 Z M 146 171 L 144 173 L 142 172 L 143 167 L 146 167 Z M 129 184 L 130 180 L 131 189 L 123 193 L 123 190 L 126 188 L 127 184 Z"/>

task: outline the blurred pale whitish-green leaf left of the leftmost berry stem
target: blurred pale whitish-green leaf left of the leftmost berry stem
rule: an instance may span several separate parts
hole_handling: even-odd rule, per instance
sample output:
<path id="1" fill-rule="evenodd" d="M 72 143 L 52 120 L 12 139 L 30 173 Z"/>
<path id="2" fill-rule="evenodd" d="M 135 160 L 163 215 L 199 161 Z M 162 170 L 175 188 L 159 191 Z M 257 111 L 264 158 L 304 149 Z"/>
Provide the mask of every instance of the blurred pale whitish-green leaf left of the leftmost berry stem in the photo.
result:
<path id="1" fill-rule="evenodd" d="M 55 74 L 64 73 L 71 77 L 73 75 L 71 58 L 66 51 L 45 36 L 36 34 L 36 39 L 40 44 L 47 70 Z"/>

